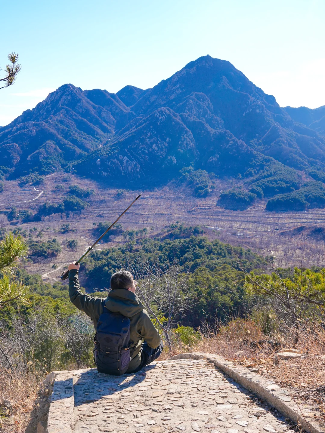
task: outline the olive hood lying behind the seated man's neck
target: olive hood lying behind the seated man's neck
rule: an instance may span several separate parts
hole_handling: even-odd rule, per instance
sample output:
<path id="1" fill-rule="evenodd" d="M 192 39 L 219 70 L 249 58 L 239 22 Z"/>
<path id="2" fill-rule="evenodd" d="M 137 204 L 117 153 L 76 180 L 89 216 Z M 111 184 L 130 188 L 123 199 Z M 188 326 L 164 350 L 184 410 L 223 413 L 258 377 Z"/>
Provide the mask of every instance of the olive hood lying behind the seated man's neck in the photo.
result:
<path id="1" fill-rule="evenodd" d="M 108 294 L 105 305 L 113 313 L 132 317 L 143 310 L 143 304 L 136 294 L 126 289 L 114 289 Z"/>

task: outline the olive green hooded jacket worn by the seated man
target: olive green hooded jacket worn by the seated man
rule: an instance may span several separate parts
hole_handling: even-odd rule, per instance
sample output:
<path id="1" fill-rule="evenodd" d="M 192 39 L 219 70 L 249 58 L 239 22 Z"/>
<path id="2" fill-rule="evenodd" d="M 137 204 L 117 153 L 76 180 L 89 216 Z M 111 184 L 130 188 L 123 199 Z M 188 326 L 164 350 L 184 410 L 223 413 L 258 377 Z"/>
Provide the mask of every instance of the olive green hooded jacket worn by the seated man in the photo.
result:
<path id="1" fill-rule="evenodd" d="M 111 290 L 106 298 L 83 294 L 80 290 L 78 271 L 71 269 L 69 271 L 69 296 L 72 304 L 91 318 L 95 329 L 99 316 L 103 313 L 102 302 L 104 299 L 108 310 L 113 313 L 120 313 L 130 319 L 130 356 L 132 360 L 127 372 L 135 370 L 140 365 L 140 348 L 143 341 L 146 341 L 148 346 L 153 349 L 159 346 L 158 330 L 150 320 L 149 314 L 143 309 L 143 304 L 139 298 L 129 290 Z"/>

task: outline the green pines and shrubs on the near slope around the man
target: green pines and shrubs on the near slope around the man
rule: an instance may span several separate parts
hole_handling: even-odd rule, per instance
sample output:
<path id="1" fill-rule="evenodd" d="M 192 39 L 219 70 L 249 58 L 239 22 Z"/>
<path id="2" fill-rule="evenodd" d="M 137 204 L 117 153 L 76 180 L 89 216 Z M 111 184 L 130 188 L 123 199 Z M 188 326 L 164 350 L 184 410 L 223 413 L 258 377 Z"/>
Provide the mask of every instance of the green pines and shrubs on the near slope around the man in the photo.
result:
<path id="1" fill-rule="evenodd" d="M 324 270 L 276 269 L 272 261 L 272 257 L 262 258 L 249 249 L 218 240 L 209 242 L 200 227 L 173 224 L 154 238 L 138 234 L 136 240 L 127 240 L 119 248 L 91 253 L 83 262 L 81 276 L 87 278 L 88 291 L 105 297 L 110 276 L 117 268 L 123 266 L 134 275 L 141 274 L 138 296 L 143 300 L 144 295 L 149 313 L 152 310 L 163 325 L 169 308 L 159 296 L 166 297 L 166 284 L 160 293 L 157 281 L 171 278 L 177 268 L 178 281 L 185 278 L 182 285 L 175 285 L 177 302 L 182 299 L 184 308 L 172 317 L 169 339 L 172 344 L 181 341 L 191 346 L 201 338 L 197 330 L 204 334 L 206 326 L 216 330 L 240 318 L 253 318 L 262 326 L 259 335 L 273 338 L 276 333 L 285 333 L 286 326 L 299 325 L 308 317 L 322 320 Z M 268 268 L 273 273 L 264 275 Z M 40 275 L 29 275 L 21 268 L 15 274 L 15 280 L 28 292 L 24 291 L 23 302 L 2 301 L 0 373 L 1 368 L 9 368 L 11 372 L 36 371 L 41 377 L 71 363 L 91 365 L 94 328 L 69 301 L 67 284 L 44 283 Z M 150 301 L 146 298 L 146 281 L 156 287 L 149 294 Z M 8 341 L 13 344 L 8 345 Z M 8 364 L 8 359 L 16 361 Z"/>

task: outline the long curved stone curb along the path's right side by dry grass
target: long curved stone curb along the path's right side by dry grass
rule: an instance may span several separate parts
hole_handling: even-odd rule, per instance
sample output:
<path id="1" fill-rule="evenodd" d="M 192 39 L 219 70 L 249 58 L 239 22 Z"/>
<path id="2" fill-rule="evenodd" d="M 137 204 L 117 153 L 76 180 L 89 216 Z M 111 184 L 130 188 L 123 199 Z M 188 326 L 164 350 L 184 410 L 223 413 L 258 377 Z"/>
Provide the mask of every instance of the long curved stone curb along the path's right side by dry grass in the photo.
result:
<path id="1" fill-rule="evenodd" d="M 306 409 L 301 411 L 299 406 L 292 400 L 289 391 L 276 385 L 274 381 L 263 378 L 263 376 L 257 373 L 250 372 L 247 368 L 239 367 L 235 363 L 227 361 L 222 356 L 210 353 L 181 353 L 169 358 L 170 361 L 176 359 L 206 359 L 244 388 L 247 388 L 249 391 L 267 401 L 267 403 L 290 418 L 294 423 L 300 424 L 307 432 L 324 433 L 322 427 L 315 423 L 315 421 L 308 419 L 310 412 L 307 412 Z"/>

